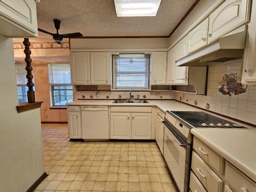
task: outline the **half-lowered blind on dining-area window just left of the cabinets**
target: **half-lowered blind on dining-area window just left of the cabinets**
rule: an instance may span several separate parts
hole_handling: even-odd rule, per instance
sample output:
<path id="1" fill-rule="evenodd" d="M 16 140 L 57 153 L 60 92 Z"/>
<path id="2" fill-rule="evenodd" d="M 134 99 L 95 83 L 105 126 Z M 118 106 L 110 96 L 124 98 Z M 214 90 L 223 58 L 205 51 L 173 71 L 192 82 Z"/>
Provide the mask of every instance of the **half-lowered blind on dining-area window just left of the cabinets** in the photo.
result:
<path id="1" fill-rule="evenodd" d="M 50 84 L 71 84 L 70 64 L 49 63 Z"/>

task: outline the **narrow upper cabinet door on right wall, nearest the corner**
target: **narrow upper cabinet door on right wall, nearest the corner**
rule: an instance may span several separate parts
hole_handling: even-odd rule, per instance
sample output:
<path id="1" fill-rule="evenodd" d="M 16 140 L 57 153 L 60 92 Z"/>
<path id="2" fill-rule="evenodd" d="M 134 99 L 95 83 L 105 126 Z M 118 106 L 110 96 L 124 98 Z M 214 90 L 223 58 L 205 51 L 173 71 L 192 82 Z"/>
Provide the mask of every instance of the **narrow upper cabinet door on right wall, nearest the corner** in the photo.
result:
<path id="1" fill-rule="evenodd" d="M 175 46 L 168 51 L 167 54 L 167 72 L 166 81 L 168 85 L 174 84 L 174 72 L 175 72 Z"/>

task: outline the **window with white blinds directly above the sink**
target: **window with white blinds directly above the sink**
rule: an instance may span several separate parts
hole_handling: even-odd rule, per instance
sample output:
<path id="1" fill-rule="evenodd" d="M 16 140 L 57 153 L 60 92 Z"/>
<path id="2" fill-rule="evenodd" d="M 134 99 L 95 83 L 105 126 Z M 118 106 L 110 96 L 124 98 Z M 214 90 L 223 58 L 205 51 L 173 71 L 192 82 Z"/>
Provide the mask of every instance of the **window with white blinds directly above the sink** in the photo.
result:
<path id="1" fill-rule="evenodd" d="M 149 56 L 113 56 L 114 89 L 148 89 Z"/>

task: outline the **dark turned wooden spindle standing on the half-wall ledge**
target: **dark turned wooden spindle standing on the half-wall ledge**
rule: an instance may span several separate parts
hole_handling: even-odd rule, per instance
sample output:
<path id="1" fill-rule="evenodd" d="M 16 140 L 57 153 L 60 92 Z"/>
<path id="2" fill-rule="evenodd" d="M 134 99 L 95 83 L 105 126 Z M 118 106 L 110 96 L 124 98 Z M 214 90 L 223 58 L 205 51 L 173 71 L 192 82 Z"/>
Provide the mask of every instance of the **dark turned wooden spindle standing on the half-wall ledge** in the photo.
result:
<path id="1" fill-rule="evenodd" d="M 33 79 L 32 70 L 33 70 L 33 68 L 31 66 L 32 59 L 30 58 L 31 51 L 29 49 L 29 47 L 30 47 L 29 39 L 24 38 L 23 44 L 25 46 L 24 53 L 26 54 L 26 58 L 25 58 L 26 68 L 25 69 L 27 71 L 26 78 L 28 79 L 28 83 L 27 83 L 27 86 L 28 86 L 28 91 L 27 91 L 28 103 L 32 103 L 32 102 L 36 102 L 36 97 L 35 97 L 35 92 L 33 90 L 34 83 L 32 82 L 32 79 Z"/>

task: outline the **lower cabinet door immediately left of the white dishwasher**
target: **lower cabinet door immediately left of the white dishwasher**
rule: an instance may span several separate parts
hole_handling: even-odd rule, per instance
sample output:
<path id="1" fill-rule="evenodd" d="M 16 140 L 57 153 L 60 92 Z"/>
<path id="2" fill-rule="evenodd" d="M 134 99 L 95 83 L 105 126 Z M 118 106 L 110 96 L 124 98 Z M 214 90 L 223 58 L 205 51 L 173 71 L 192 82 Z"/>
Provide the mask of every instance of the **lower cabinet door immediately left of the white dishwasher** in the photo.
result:
<path id="1" fill-rule="evenodd" d="M 68 113 L 68 138 L 81 138 L 81 120 L 79 112 Z"/>

